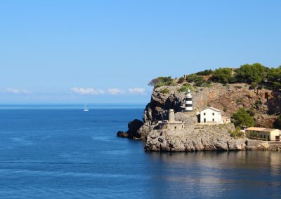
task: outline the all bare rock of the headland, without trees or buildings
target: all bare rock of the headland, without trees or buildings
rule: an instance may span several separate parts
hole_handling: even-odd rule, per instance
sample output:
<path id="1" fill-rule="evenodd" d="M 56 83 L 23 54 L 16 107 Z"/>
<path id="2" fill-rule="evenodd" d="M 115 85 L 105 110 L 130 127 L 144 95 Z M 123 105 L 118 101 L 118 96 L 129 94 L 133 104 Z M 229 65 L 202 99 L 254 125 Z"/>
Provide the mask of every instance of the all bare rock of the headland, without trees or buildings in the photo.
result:
<path id="1" fill-rule="evenodd" d="M 169 93 L 162 93 L 168 88 Z M 280 150 L 280 143 L 268 143 L 248 139 L 233 139 L 229 130 L 233 124 L 200 125 L 194 115 L 181 113 L 185 98 L 177 86 L 155 88 L 150 103 L 145 107 L 143 122 L 129 123 L 129 130 L 123 137 L 146 140 L 147 151 L 214 151 L 214 150 Z M 272 90 L 250 90 L 249 85 L 237 83 L 228 86 L 212 83 L 209 88 L 192 90 L 195 113 L 206 107 L 224 110 L 225 116 L 231 116 L 237 109 L 254 108 L 254 120 L 257 126 L 272 128 L 277 114 L 281 112 L 280 92 Z M 185 130 L 157 130 L 157 121 L 167 118 L 169 109 L 174 109 L 176 121 L 185 122 Z M 131 124 L 131 125 L 130 125 Z M 136 124 L 136 125 L 135 125 Z"/>

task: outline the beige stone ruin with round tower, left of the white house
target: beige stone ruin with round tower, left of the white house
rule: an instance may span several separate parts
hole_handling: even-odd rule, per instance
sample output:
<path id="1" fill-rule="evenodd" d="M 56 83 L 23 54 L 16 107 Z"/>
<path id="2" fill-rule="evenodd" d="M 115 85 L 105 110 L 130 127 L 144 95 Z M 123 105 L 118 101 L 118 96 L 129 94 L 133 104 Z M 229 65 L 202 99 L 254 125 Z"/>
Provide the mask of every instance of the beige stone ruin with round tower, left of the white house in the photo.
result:
<path id="1" fill-rule="evenodd" d="M 168 121 L 159 121 L 159 129 L 163 130 L 183 130 L 184 123 L 182 121 L 175 121 L 175 112 L 173 109 L 169 110 L 169 120 Z"/>

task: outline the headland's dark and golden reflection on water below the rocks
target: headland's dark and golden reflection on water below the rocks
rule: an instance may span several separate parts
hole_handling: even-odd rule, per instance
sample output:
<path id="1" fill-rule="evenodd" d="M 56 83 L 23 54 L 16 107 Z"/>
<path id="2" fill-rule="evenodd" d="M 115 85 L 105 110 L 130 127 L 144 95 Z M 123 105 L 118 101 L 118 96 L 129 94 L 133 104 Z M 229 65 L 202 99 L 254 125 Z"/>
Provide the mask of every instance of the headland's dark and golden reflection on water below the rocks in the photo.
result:
<path id="1" fill-rule="evenodd" d="M 280 152 L 238 151 L 147 153 L 156 181 L 154 197 L 186 193 L 189 197 L 266 197 L 280 195 Z"/>

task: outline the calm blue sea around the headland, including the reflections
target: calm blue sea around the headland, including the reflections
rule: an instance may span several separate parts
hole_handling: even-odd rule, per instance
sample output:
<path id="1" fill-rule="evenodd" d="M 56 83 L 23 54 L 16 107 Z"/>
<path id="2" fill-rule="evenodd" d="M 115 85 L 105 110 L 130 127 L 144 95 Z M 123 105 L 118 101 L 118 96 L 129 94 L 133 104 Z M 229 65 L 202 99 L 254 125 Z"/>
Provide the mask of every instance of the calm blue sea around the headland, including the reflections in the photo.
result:
<path id="1" fill-rule="evenodd" d="M 0 198 L 281 198 L 281 153 L 145 153 L 144 105 L 0 105 Z"/>

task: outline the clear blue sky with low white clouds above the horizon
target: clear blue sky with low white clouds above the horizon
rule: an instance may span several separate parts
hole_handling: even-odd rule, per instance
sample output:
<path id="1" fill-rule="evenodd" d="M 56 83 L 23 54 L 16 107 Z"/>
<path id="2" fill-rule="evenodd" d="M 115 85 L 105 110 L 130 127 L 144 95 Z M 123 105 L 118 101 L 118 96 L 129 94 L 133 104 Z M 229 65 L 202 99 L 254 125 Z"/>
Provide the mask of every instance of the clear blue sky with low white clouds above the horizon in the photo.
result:
<path id="1" fill-rule="evenodd" d="M 281 1 L 0 1 L 0 103 L 146 103 L 157 76 L 281 65 Z"/>

